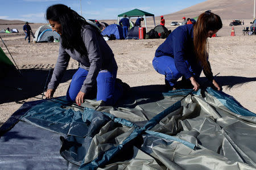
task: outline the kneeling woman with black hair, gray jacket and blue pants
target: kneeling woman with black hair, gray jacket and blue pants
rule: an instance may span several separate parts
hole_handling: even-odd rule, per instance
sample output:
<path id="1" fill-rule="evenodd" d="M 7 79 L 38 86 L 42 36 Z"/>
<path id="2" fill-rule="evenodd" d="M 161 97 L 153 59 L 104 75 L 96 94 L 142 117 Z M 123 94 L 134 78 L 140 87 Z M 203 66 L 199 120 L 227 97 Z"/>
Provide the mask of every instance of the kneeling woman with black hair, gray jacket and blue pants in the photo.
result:
<path id="1" fill-rule="evenodd" d="M 59 57 L 48 84 L 46 98 L 51 99 L 67 69 L 70 57 L 79 62 L 79 69 L 72 77 L 67 91 L 67 100 L 78 105 L 96 93 L 97 100 L 113 105 L 123 90 L 117 83 L 117 63 L 109 45 L 100 31 L 86 22 L 76 11 L 65 5 L 52 5 L 47 8 L 46 18 L 60 35 Z"/>

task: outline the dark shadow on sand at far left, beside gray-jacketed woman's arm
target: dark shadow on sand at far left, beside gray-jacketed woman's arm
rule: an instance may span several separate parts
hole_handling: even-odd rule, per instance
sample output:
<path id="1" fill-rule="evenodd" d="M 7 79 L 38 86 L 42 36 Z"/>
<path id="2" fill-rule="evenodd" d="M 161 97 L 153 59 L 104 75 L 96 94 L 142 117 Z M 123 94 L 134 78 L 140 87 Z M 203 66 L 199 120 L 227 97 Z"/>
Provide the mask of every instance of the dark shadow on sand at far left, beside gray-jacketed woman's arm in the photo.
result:
<path id="1" fill-rule="evenodd" d="M 21 69 L 22 75 L 17 72 L 10 71 L 0 79 L 0 104 L 25 100 L 42 94 L 52 75 L 50 69 Z M 65 71 L 61 83 L 72 79 L 75 72 L 76 69 Z"/>

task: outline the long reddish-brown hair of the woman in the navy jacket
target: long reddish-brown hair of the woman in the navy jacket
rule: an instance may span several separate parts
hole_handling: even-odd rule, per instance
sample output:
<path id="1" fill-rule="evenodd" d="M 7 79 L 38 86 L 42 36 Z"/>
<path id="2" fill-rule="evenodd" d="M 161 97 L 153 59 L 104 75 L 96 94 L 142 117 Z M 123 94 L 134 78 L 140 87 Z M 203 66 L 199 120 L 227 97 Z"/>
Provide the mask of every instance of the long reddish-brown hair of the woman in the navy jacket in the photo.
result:
<path id="1" fill-rule="evenodd" d="M 194 46 L 197 60 L 201 63 L 204 70 L 210 73 L 207 62 L 207 34 L 208 31 L 215 31 L 222 28 L 220 16 L 213 14 L 210 10 L 199 15 L 193 29 Z"/>

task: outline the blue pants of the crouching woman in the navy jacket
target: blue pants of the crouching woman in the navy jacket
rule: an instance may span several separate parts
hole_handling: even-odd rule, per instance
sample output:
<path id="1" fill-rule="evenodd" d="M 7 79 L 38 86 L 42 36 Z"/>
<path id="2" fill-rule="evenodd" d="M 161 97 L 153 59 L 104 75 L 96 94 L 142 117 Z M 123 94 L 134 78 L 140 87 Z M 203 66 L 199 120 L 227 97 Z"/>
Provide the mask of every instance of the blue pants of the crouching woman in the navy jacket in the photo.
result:
<path id="1" fill-rule="evenodd" d="M 189 71 L 195 76 L 195 78 L 199 78 L 202 67 L 199 65 L 191 65 L 188 61 L 185 61 L 188 65 Z M 160 56 L 154 57 L 152 61 L 154 69 L 166 76 L 166 81 L 170 84 L 170 86 L 175 86 L 177 80 L 181 78 L 182 74 L 177 70 L 175 66 L 174 58 L 170 56 Z"/>

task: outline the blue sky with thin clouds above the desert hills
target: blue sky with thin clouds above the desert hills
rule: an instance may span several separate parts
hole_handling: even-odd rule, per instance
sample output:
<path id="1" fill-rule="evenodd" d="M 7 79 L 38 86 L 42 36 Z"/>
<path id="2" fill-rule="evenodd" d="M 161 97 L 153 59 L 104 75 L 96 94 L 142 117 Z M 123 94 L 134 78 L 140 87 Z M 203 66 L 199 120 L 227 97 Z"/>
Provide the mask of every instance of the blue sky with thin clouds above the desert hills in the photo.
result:
<path id="1" fill-rule="evenodd" d="M 118 14 L 138 8 L 155 14 L 171 14 L 205 0 L 81 0 L 82 16 L 85 19 L 117 19 Z M 1 0 L 0 19 L 23 20 L 32 23 L 46 23 L 48 6 L 63 3 L 81 15 L 80 0 Z"/>

